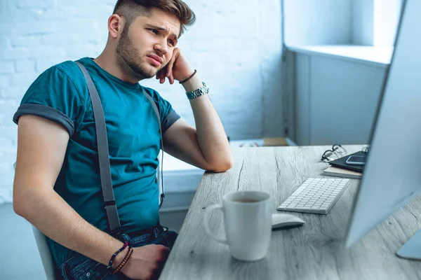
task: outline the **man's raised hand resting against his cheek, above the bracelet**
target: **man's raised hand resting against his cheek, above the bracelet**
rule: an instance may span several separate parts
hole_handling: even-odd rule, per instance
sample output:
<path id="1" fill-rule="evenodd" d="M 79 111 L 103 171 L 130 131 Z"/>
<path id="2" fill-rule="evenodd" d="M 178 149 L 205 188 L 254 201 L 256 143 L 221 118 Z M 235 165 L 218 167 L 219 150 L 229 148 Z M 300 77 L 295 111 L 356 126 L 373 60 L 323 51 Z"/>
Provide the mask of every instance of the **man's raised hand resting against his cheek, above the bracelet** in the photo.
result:
<path id="1" fill-rule="evenodd" d="M 159 80 L 159 83 L 164 83 L 165 78 L 168 78 L 172 85 L 174 80 L 180 81 L 189 78 L 193 71 L 194 69 L 190 66 L 185 55 L 179 48 L 175 48 L 170 62 L 156 73 L 156 79 Z"/>

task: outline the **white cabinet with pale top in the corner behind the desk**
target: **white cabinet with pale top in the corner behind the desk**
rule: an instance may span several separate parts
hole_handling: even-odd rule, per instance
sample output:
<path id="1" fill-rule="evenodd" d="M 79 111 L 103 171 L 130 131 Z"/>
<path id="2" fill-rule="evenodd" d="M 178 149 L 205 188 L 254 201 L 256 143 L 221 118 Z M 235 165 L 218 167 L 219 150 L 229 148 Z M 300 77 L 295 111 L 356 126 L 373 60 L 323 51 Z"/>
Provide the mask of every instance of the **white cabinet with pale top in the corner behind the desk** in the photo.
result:
<path id="1" fill-rule="evenodd" d="M 290 48 L 295 51 L 296 141 L 301 146 L 367 144 L 392 50 L 380 57 L 373 48 L 349 56 L 326 48 L 330 51 Z"/>

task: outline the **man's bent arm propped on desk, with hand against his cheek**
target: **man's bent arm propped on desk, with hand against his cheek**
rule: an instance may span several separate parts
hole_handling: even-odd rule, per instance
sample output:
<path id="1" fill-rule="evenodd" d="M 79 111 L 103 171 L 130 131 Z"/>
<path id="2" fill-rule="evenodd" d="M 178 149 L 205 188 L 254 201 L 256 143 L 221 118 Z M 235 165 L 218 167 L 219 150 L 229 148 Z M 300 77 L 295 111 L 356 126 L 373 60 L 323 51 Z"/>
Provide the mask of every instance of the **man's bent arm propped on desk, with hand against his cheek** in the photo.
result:
<path id="1" fill-rule="evenodd" d="M 174 79 L 183 80 L 182 77 L 186 77 L 186 73 L 193 72 L 180 50 L 175 51 L 175 57 L 167 69 L 171 69 L 166 73 L 170 83 L 173 83 Z M 179 73 L 175 73 L 174 69 Z M 161 75 L 162 73 L 158 78 L 161 78 Z M 161 83 L 163 80 L 165 79 L 161 78 Z M 198 73 L 182 85 L 186 92 L 203 86 Z M 207 94 L 203 94 L 190 100 L 190 104 L 196 129 L 184 120 L 177 120 L 163 134 L 165 151 L 201 169 L 213 172 L 227 171 L 234 164 L 234 160 L 227 134 L 212 102 Z"/>

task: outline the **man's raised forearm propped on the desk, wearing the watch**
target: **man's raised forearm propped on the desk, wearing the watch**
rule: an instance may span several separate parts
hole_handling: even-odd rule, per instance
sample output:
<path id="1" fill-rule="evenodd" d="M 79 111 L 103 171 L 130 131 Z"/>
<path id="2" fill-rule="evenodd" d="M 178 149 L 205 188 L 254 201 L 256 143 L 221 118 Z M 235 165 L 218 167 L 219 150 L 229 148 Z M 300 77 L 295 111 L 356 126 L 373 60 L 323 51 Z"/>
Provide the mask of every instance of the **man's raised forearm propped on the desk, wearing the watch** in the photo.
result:
<path id="1" fill-rule="evenodd" d="M 186 92 L 202 86 L 198 74 L 182 84 Z M 197 141 L 208 164 L 226 170 L 232 166 L 232 153 L 222 122 L 207 94 L 190 100 L 196 123 Z M 225 168 L 227 167 L 227 168 Z"/>

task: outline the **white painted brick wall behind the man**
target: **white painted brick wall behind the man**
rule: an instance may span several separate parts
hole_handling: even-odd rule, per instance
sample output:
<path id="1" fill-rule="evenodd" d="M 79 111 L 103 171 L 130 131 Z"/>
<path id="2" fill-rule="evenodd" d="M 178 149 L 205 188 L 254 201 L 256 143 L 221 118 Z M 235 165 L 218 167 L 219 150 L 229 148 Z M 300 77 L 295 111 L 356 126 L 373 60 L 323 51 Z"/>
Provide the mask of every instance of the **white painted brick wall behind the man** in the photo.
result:
<path id="1" fill-rule="evenodd" d="M 279 0 L 189 0 L 197 22 L 180 48 L 208 82 L 232 139 L 282 135 Z M 107 40 L 115 0 L 0 1 L 0 203 L 11 202 L 17 126 L 13 113 L 44 70 L 96 57 Z M 154 87 L 194 124 L 180 85 Z"/>

